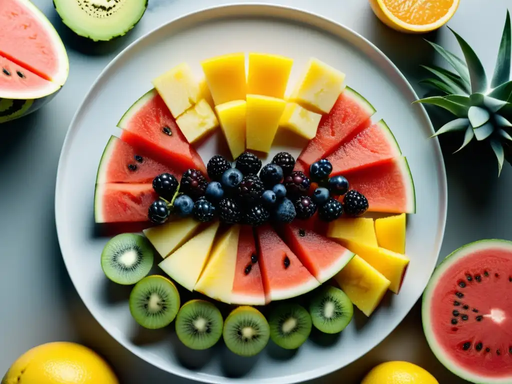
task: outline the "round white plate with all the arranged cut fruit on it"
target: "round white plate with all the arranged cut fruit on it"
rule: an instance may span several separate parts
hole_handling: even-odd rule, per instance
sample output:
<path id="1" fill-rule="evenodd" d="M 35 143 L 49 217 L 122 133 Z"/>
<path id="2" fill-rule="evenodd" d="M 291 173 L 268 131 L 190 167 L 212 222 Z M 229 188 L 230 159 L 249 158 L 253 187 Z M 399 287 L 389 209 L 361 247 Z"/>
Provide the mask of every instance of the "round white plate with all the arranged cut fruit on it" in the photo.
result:
<path id="1" fill-rule="evenodd" d="M 435 266 L 444 170 L 414 92 L 353 32 L 332 24 L 333 42 L 314 27 L 326 20 L 282 17 L 195 14 L 136 41 L 62 150 L 57 229 L 79 294 L 121 344 L 178 375 L 295 382 L 342 367 L 393 330 Z M 275 41 L 254 38 L 259 23 Z M 242 25 L 247 44 L 179 50 Z M 306 50 L 285 47 L 291 30 Z M 162 47 L 174 54 L 157 59 Z M 223 371 L 232 358 L 249 368 Z"/>

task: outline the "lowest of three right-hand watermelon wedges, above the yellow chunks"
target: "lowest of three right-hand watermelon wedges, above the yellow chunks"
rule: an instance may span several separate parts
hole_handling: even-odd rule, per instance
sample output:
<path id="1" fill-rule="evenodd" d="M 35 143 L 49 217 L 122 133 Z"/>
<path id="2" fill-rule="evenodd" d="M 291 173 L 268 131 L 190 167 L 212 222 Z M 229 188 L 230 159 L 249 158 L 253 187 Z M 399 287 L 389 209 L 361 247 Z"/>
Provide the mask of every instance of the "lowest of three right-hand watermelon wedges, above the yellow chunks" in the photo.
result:
<path id="1" fill-rule="evenodd" d="M 405 157 L 397 157 L 344 175 L 350 189 L 368 199 L 371 212 L 416 213 L 414 182 Z"/>

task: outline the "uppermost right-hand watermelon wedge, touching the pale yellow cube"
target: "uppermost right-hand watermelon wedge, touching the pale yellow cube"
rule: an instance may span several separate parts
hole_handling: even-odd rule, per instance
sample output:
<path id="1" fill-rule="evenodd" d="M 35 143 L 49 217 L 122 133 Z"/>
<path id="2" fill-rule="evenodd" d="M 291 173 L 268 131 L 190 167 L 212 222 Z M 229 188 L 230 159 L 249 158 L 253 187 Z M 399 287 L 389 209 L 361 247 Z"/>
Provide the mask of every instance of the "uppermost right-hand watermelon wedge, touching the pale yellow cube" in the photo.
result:
<path id="1" fill-rule="evenodd" d="M 328 115 L 324 115 L 316 136 L 308 142 L 298 157 L 306 169 L 315 161 L 330 155 L 348 137 L 371 123 L 375 109 L 364 97 L 347 87 L 339 95 Z"/>

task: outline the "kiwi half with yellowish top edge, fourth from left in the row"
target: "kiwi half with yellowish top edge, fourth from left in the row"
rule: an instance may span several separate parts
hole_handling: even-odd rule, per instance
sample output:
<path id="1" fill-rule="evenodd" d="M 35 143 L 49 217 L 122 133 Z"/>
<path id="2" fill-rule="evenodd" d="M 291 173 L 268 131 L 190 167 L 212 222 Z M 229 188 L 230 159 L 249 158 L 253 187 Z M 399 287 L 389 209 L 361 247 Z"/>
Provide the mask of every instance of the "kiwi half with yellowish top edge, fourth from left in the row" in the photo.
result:
<path id="1" fill-rule="evenodd" d="M 242 306 L 227 316 L 223 336 L 231 352 L 240 356 L 254 356 L 267 345 L 270 327 L 260 311 Z"/>

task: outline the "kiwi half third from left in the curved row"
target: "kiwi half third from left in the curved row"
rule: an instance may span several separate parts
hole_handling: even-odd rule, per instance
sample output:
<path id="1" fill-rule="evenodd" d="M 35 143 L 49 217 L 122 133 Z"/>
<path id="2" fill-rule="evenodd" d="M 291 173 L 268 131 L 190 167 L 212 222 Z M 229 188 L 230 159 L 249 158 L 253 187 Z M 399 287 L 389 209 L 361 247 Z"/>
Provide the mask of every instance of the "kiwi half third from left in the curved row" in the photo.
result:
<path id="1" fill-rule="evenodd" d="M 217 307 L 204 300 L 191 300 L 176 317 L 176 334 L 190 349 L 213 347 L 222 336 L 224 321 Z"/>

